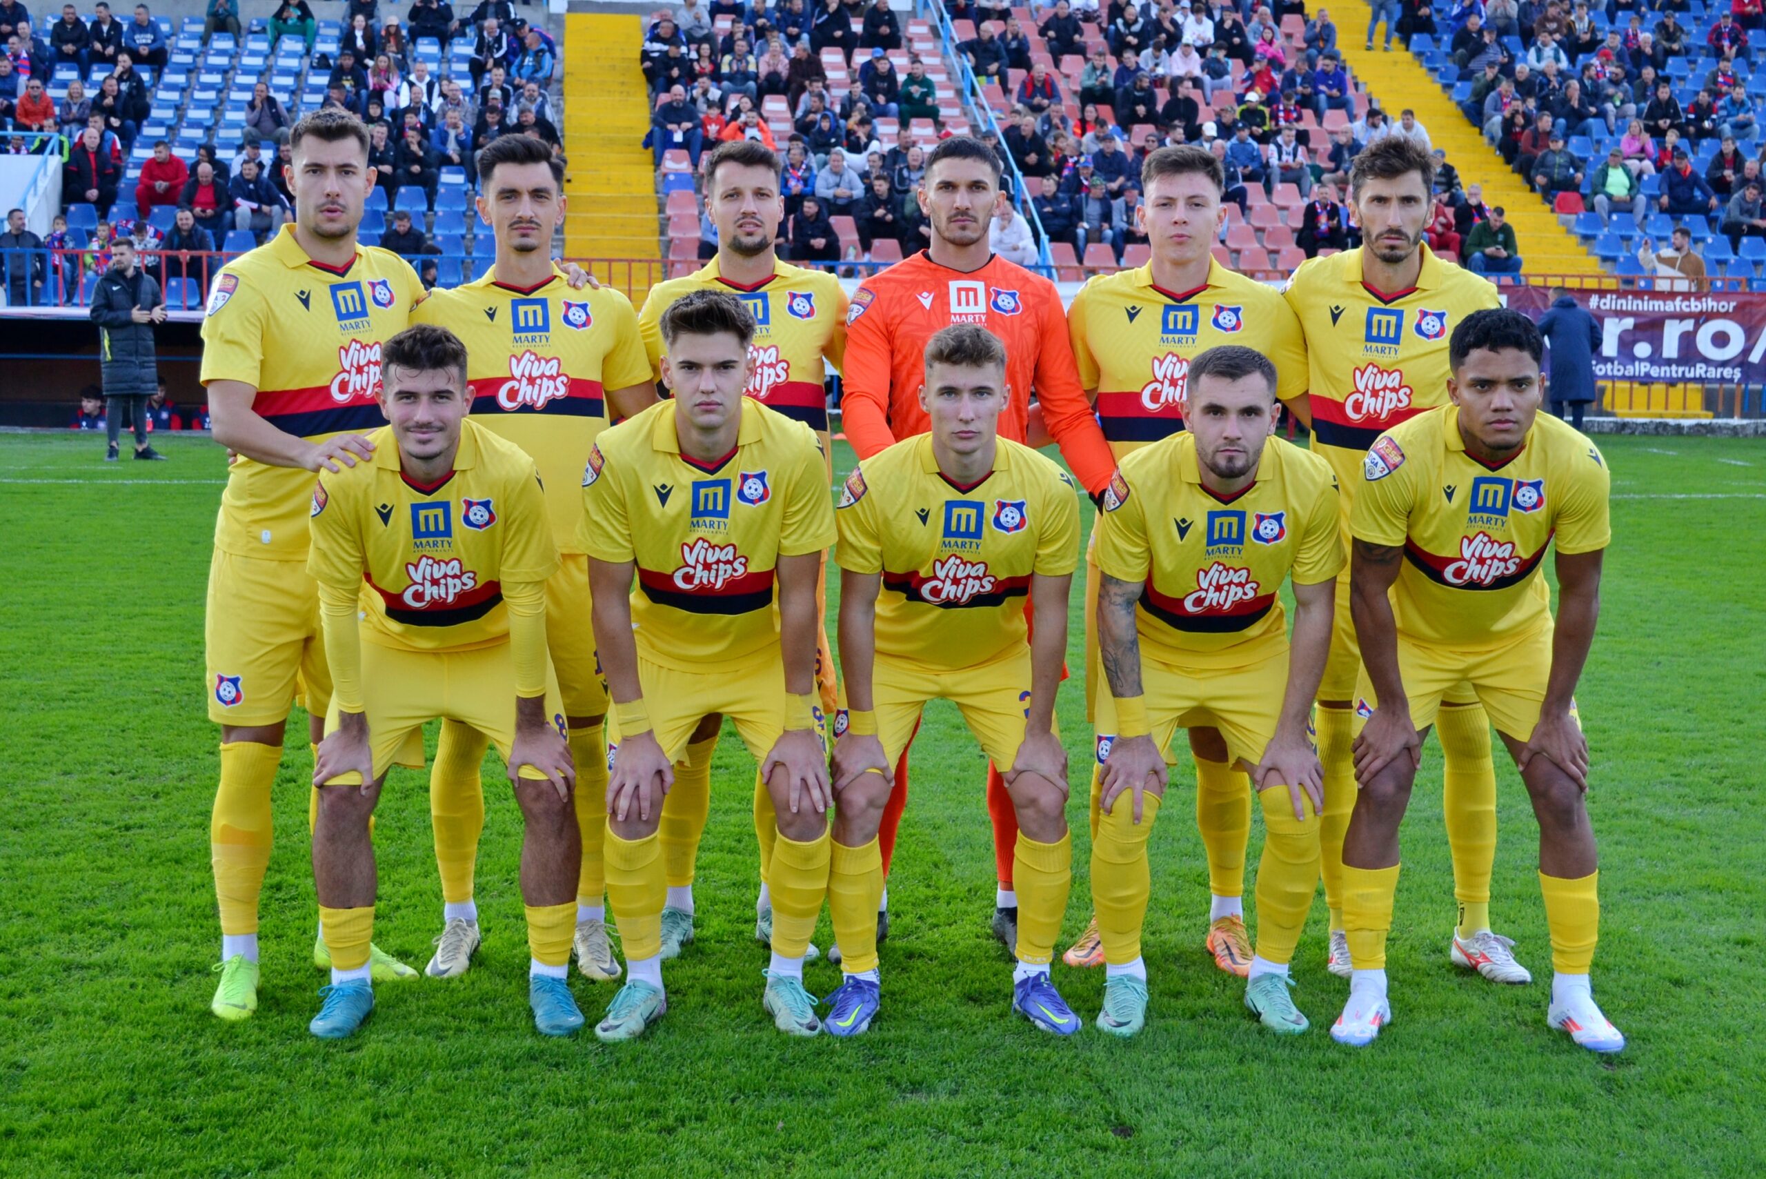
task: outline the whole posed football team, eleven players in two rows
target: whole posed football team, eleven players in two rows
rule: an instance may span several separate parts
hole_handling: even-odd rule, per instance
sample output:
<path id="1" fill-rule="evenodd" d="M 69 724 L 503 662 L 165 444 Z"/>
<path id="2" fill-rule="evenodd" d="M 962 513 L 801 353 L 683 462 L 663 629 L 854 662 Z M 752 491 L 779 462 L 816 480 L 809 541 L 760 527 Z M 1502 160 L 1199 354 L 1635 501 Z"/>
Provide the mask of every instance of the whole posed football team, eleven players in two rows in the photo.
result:
<path id="1" fill-rule="evenodd" d="M 1538 413 L 1533 323 L 1423 244 L 1427 152 L 1402 138 L 1362 152 L 1363 245 L 1307 261 L 1282 291 L 1211 256 L 1220 164 L 1151 152 L 1137 212 L 1151 259 L 1063 311 L 1054 284 L 989 251 L 1001 164 L 977 139 L 929 157 L 931 245 L 851 300 L 777 258 L 779 157 L 726 143 L 703 169 L 717 256 L 636 311 L 553 259 L 565 198 L 542 145 L 480 152 L 494 267 L 426 297 L 406 261 L 357 238 L 374 184 L 364 125 L 320 111 L 290 141 L 297 215 L 221 270 L 203 321 L 214 436 L 233 452 L 205 623 L 217 1017 L 258 1006 L 270 792 L 302 702 L 313 955 L 330 972 L 314 1036 L 353 1034 L 374 983 L 419 978 L 373 941 L 373 812 L 392 764 L 424 766 L 436 718 L 445 907 L 422 972 L 464 974 L 480 944 L 494 743 L 525 821 L 535 1027 L 581 1029 L 574 957 L 618 983 L 595 1034 L 641 1036 L 668 1010 L 662 962 L 694 937 L 726 717 L 758 762 L 763 1008 L 786 1034 L 862 1034 L 883 1013 L 909 747 L 924 704 L 948 699 L 991 762 L 991 928 L 1015 960 L 1001 999 L 1035 1027 L 1083 1025 L 1051 976 L 1075 773 L 1093 916 L 1063 960 L 1106 969 L 1097 1029 L 1144 1025 L 1146 849 L 1180 727 L 1213 895 L 1197 923 L 1263 1025 L 1309 1027 L 1289 960 L 1321 879 L 1328 969 L 1347 980 L 1332 1036 L 1367 1045 L 1392 1022 L 1399 824 L 1430 729 L 1459 904 L 1446 950 L 1494 983 L 1531 981 L 1489 914 L 1494 725 L 1538 821 L 1547 1022 L 1584 1048 L 1625 1045 L 1589 988 L 1598 872 L 1574 702 L 1609 477 Z M 837 489 L 830 371 L 858 457 Z M 1275 436 L 1284 404 L 1310 448 Z M 1049 443 L 1067 469 L 1035 450 Z M 1084 552 L 1079 494 L 1098 508 Z M 1086 770 L 1054 724 L 1075 575 Z M 842 981 L 818 1001 L 804 964 L 823 905 Z"/>

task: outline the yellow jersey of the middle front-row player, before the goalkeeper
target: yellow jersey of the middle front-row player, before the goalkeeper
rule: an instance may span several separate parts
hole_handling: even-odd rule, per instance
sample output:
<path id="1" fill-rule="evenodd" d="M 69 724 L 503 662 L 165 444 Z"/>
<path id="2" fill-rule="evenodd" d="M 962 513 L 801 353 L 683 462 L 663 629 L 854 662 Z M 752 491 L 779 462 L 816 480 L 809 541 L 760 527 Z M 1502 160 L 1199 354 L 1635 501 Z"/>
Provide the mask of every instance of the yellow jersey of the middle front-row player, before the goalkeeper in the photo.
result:
<path id="1" fill-rule="evenodd" d="M 883 575 L 876 653 L 922 671 L 1021 650 L 1031 574 L 1061 577 L 1079 563 L 1072 478 L 1007 438 L 970 487 L 938 469 L 931 434 L 881 450 L 846 478 L 835 526 L 841 568 Z"/>

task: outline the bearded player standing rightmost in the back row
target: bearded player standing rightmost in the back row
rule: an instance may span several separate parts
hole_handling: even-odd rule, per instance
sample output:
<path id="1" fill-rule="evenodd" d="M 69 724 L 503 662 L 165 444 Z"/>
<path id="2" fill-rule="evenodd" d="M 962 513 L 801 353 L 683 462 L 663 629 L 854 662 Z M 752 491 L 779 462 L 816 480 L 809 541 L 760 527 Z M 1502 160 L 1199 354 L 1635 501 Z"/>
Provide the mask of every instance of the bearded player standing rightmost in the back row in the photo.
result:
<path id="1" fill-rule="evenodd" d="M 1307 335 L 1312 447 L 1337 473 L 1347 542 L 1349 508 L 1362 485 L 1367 448 L 1381 431 L 1443 404 L 1446 348 L 1453 327 L 1496 307 L 1496 288 L 1441 261 L 1423 244 L 1434 157 L 1390 136 L 1355 157 L 1349 207 L 1362 245 L 1314 258 L 1294 272 L 1287 302 Z M 1349 618 L 1347 572 L 1339 577 L 1332 657 L 1319 685 L 1317 743 L 1324 762 L 1321 822 L 1324 902 L 1330 905 L 1330 971 L 1349 976 L 1342 934 L 1342 838 L 1355 807 L 1351 695 L 1360 667 Z M 1452 688 L 1441 710 L 1446 761 L 1443 805 L 1453 852 L 1459 925 L 1450 957 L 1501 983 L 1531 981 L 1506 937 L 1491 932 L 1491 868 L 1496 861 L 1496 768 L 1491 720 L 1478 701 Z"/>

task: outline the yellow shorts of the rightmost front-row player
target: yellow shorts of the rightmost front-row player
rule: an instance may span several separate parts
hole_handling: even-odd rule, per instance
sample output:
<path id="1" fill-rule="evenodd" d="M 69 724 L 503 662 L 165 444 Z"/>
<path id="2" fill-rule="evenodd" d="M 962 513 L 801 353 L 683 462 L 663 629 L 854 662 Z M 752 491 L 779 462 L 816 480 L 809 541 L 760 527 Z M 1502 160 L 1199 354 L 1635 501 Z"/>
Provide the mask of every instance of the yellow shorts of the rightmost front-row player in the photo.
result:
<path id="1" fill-rule="evenodd" d="M 1445 648 L 1399 634 L 1399 674 L 1411 702 L 1411 724 L 1418 732 L 1427 729 L 1434 724 L 1443 697 L 1459 694 L 1483 704 L 1498 732 L 1526 741 L 1533 736 L 1545 701 L 1551 642 L 1551 627 L 1494 648 Z M 1374 685 L 1363 671 L 1355 688 L 1356 732 L 1377 706 Z"/>

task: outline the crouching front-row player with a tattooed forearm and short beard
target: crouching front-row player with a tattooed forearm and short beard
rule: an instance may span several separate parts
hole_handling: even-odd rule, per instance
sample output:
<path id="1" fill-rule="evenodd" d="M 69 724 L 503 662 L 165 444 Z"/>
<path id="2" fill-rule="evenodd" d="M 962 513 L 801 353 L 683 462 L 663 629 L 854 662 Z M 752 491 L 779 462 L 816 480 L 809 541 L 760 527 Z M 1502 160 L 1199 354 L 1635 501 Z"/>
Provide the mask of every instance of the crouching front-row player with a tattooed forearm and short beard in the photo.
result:
<path id="1" fill-rule="evenodd" d="M 1219 729 L 1263 803 L 1245 1006 L 1277 1033 L 1307 1029 L 1287 994 L 1319 879 L 1323 770 L 1307 715 L 1344 554 L 1330 466 L 1270 436 L 1275 383 L 1275 365 L 1250 348 L 1197 355 L 1189 432 L 1125 455 L 1098 514 L 1097 634 L 1109 694 L 1097 708 L 1091 900 L 1107 969 L 1097 1025 L 1116 1036 L 1146 1020 L 1146 840 L 1180 725 Z M 1293 646 L 1279 597 L 1289 575 Z"/>

